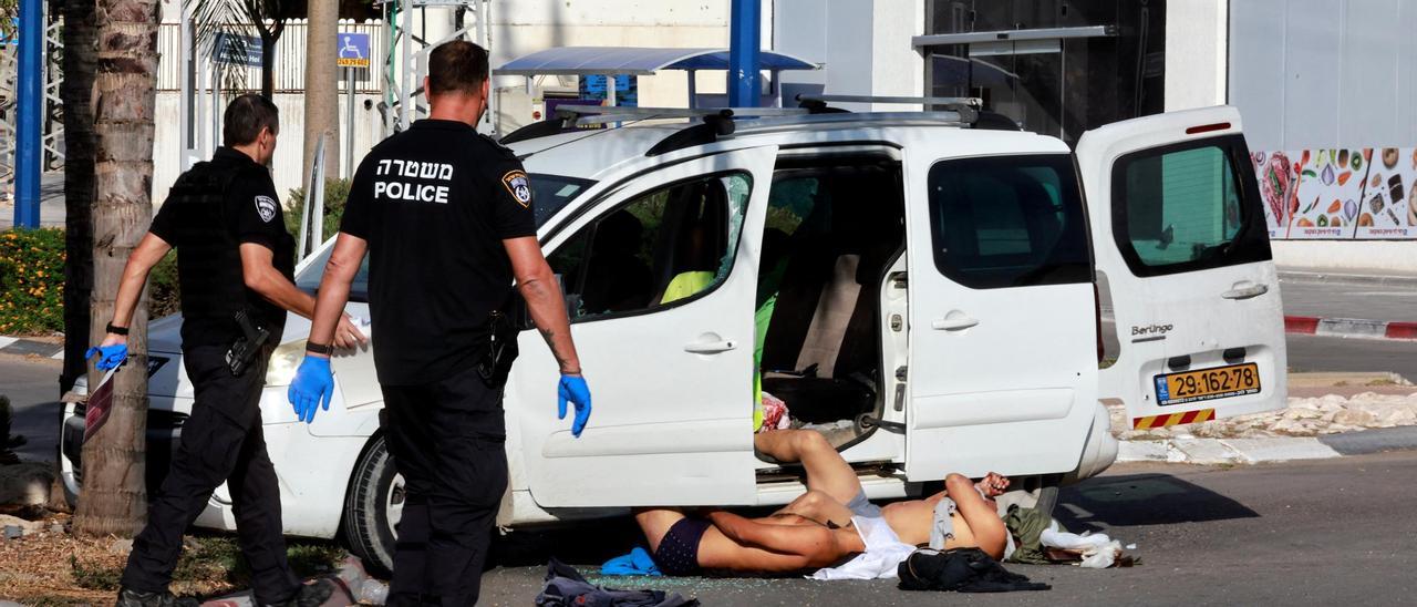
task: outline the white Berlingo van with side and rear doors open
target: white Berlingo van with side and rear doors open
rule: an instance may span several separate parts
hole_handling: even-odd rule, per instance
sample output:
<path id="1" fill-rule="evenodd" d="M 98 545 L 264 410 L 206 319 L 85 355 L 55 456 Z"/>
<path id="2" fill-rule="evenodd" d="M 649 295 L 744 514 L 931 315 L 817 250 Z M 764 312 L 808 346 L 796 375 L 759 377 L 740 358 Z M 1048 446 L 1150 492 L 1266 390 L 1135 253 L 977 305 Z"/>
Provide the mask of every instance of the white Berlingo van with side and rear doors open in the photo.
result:
<path id="1" fill-rule="evenodd" d="M 871 498 L 986 471 L 1056 492 L 1115 458 L 1108 400 L 1138 427 L 1284 406 L 1278 281 L 1234 109 L 1115 123 L 1076 152 L 971 118 L 513 133 L 595 413 L 574 438 L 554 416 L 557 366 L 523 333 L 499 520 L 785 503 L 803 488 L 754 454 L 760 383 L 837 445 Z M 300 286 L 317 285 L 329 250 L 302 262 Z M 1121 339 L 1110 366 L 1100 298 Z M 153 477 L 191 408 L 177 323 L 150 329 Z M 378 433 L 373 359 L 336 357 L 330 410 L 298 423 L 285 386 L 307 329 L 290 318 L 262 396 L 286 530 L 343 530 L 387 566 L 402 485 Z M 77 492 L 82 406 L 67 416 Z M 225 488 L 198 523 L 234 526 Z"/>

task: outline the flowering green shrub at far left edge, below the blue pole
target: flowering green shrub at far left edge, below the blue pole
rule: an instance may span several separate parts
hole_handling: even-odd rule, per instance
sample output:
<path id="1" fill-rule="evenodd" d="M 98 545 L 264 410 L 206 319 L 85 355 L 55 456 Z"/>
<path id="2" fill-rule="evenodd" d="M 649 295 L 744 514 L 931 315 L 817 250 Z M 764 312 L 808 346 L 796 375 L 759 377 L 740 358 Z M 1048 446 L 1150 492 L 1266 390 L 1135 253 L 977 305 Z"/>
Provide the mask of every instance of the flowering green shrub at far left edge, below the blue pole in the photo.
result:
<path id="1" fill-rule="evenodd" d="M 64 230 L 0 234 L 0 335 L 64 330 Z"/>

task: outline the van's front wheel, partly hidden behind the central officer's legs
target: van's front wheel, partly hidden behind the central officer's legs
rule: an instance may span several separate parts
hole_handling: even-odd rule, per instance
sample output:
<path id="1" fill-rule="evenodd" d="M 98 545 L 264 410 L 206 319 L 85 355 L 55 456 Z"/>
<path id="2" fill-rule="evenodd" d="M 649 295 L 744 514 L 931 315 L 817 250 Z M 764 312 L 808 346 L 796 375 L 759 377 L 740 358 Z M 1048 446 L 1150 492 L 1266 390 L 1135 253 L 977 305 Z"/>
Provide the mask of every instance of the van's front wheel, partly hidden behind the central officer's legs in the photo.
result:
<path id="1" fill-rule="evenodd" d="M 344 498 L 344 540 L 371 573 L 394 570 L 394 526 L 404 506 L 404 478 L 394 472 L 384 437 L 370 442 Z"/>

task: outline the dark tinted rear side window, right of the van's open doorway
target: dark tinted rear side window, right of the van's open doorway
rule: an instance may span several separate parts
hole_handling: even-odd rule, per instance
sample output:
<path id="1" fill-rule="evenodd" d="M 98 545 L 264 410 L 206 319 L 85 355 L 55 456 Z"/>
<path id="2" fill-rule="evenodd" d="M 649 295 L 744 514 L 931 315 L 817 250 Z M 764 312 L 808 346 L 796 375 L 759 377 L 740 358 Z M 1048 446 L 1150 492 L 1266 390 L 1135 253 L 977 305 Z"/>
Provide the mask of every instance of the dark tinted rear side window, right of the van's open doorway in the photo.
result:
<path id="1" fill-rule="evenodd" d="M 949 279 L 976 289 L 1093 279 L 1071 157 L 945 160 L 928 187 L 935 268 Z"/>

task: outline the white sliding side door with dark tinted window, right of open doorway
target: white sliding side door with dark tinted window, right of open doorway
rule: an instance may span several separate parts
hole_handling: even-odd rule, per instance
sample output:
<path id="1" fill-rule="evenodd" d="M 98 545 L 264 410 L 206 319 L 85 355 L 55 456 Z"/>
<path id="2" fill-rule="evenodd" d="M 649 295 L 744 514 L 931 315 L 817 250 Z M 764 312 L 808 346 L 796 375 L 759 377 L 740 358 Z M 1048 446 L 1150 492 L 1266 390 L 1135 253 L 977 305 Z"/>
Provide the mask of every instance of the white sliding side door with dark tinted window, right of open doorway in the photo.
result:
<path id="1" fill-rule="evenodd" d="M 907 478 L 1074 469 L 1097 411 L 1097 333 L 1067 146 L 932 138 L 907 147 L 905 187 Z"/>

